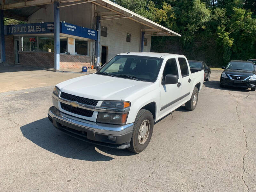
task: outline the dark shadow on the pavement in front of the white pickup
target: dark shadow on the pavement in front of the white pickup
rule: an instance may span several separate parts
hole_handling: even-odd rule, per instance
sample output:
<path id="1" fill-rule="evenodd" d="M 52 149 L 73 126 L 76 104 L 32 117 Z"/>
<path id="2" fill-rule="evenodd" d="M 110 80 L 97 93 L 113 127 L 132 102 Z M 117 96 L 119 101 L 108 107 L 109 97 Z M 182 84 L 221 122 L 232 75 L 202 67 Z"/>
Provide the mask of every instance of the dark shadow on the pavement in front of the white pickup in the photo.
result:
<path id="1" fill-rule="evenodd" d="M 70 137 L 55 129 L 48 118 L 23 125 L 20 130 L 25 138 L 37 146 L 57 155 L 84 161 L 111 161 L 114 156 L 133 156 L 127 149 L 114 149 L 97 146 Z"/>

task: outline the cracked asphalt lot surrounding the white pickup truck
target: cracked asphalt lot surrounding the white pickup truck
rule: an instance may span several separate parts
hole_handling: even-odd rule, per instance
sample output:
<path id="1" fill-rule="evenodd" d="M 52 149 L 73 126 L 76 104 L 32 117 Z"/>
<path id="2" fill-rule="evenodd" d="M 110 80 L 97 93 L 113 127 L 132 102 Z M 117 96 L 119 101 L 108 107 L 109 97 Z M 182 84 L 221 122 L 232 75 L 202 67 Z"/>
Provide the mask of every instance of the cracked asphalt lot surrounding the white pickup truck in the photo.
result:
<path id="1" fill-rule="evenodd" d="M 0 191 L 256 191 L 256 93 L 219 88 L 220 74 L 212 71 L 196 110 L 181 106 L 157 122 L 138 155 L 56 130 L 47 118 L 53 85 L 7 89 Z"/>

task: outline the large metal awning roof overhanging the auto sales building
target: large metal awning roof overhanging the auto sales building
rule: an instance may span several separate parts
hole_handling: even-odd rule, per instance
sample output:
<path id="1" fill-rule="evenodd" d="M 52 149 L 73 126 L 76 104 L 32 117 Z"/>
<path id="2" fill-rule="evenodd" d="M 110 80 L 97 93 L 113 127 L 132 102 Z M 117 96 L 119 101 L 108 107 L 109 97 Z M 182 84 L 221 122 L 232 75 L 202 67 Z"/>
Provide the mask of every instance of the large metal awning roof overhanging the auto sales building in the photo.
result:
<path id="1" fill-rule="evenodd" d="M 86 2 L 87 0 L 0 0 L 1 9 L 5 10 L 5 17 L 26 20 L 28 16 L 33 14 L 35 11 L 41 8 L 42 5 L 52 4 L 56 1 L 59 1 L 60 4 L 77 4 L 79 2 Z M 89 1 L 89 0 L 88 0 Z M 142 29 L 145 32 L 145 35 L 156 35 L 156 36 L 181 36 L 180 34 L 165 28 L 151 20 L 146 19 L 145 17 L 140 16 L 137 13 L 134 13 L 124 7 L 115 4 L 109 0 L 95 0 L 90 1 L 91 3 L 103 7 L 111 12 L 119 14 L 120 18 L 128 18 L 136 22 L 141 23 L 142 25 L 147 26 L 148 28 Z"/>

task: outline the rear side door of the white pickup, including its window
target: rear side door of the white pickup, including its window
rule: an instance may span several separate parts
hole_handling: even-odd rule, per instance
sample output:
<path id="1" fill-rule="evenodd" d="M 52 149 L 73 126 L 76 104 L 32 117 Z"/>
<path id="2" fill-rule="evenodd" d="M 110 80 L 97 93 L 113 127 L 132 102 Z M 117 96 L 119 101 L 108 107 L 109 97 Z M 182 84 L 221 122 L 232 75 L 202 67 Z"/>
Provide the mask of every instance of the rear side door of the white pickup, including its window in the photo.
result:
<path id="1" fill-rule="evenodd" d="M 181 101 L 189 100 L 190 91 L 192 90 L 192 79 L 190 70 L 188 69 L 188 62 L 185 58 L 180 57 L 178 58 L 178 62 L 180 65 L 180 72 L 181 72 Z"/>

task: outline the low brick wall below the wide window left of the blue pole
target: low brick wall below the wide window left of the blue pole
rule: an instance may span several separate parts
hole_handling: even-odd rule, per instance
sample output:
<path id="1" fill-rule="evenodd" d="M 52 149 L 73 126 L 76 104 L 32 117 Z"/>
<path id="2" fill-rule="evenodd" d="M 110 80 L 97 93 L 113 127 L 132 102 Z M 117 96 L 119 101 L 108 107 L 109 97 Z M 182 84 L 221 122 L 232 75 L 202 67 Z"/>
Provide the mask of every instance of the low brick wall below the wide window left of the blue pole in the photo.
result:
<path id="1" fill-rule="evenodd" d="M 54 54 L 49 52 L 20 52 L 20 65 L 54 68 Z"/>

